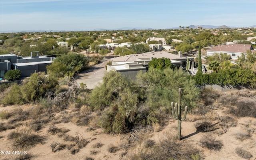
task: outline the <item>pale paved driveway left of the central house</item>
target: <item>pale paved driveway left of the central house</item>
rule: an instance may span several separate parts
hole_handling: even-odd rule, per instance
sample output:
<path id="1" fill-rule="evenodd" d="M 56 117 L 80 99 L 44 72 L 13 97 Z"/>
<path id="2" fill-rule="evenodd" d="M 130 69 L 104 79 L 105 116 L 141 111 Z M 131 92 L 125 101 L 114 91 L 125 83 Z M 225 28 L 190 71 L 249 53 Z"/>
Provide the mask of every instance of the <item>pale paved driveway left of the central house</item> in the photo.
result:
<path id="1" fill-rule="evenodd" d="M 77 83 L 86 84 L 88 89 L 93 89 L 99 83 L 102 82 L 102 78 L 106 73 L 105 65 L 109 62 L 109 59 L 101 60 L 100 63 L 80 72 L 75 76 Z"/>

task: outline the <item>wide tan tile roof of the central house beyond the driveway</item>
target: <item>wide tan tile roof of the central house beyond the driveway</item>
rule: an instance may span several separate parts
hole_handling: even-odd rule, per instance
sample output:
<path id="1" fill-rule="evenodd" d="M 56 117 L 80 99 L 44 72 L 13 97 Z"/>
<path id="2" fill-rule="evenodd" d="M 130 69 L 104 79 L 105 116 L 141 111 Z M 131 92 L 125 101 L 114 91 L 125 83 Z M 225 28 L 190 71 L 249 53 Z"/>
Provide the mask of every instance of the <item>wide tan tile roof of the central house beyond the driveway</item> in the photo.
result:
<path id="1" fill-rule="evenodd" d="M 142 53 L 142 54 L 130 54 L 127 56 L 116 57 L 116 58 L 113 58 L 112 60 L 114 62 L 118 62 L 118 61 L 134 62 L 140 58 L 163 58 L 163 57 L 169 58 L 169 59 L 174 59 L 174 60 L 185 58 L 185 57 L 179 58 L 178 55 L 171 54 L 168 52 L 146 52 L 146 53 Z"/>

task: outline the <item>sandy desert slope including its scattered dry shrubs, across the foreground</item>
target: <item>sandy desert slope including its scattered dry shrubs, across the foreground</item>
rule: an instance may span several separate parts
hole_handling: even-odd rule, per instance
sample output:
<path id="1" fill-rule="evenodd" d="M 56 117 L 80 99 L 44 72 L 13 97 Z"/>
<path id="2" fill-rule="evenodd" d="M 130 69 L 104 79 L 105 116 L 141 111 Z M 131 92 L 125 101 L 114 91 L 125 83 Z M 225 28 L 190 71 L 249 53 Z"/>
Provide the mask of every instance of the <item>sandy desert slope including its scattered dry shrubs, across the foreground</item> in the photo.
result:
<path id="1" fill-rule="evenodd" d="M 255 159 L 256 91 L 205 90 L 202 98 L 182 122 L 181 141 L 176 140 L 177 121 L 172 115 L 162 126 L 106 134 L 97 128 L 98 113 L 88 106 L 71 104 L 54 112 L 41 105 L 1 106 L 0 150 L 27 154 L 0 155 L 0 159 L 164 160 L 180 159 L 180 154 L 190 157 L 188 151 L 205 160 Z M 28 139 L 22 141 L 24 137 Z"/>

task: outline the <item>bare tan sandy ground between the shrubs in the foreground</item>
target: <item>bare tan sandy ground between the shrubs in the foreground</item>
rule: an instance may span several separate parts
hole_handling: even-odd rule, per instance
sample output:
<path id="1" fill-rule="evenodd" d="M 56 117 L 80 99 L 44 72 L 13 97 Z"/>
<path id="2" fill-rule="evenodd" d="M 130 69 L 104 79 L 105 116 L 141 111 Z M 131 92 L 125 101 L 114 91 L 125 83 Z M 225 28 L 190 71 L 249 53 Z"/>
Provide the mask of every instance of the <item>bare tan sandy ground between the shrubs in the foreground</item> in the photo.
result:
<path id="1" fill-rule="evenodd" d="M 31 105 L 24 105 L 24 106 L 6 106 L 6 107 L 0 107 L 0 111 L 3 110 L 15 110 L 17 108 L 22 107 L 24 110 L 31 107 Z M 70 111 L 69 111 L 70 112 Z M 223 113 L 223 110 L 213 110 L 212 117 L 218 117 L 221 116 Z M 249 125 L 249 127 L 254 127 L 256 124 L 255 118 L 238 118 L 238 125 L 236 127 L 229 128 L 228 132 L 225 134 L 222 134 L 218 136 L 217 134 L 214 134 L 218 140 L 221 140 L 224 144 L 223 148 L 220 151 L 210 151 L 208 149 L 200 147 L 200 140 L 204 138 L 208 133 L 202 133 L 198 132 L 196 133 L 196 130 L 194 128 L 195 122 L 191 122 L 196 117 L 194 115 L 188 114 L 186 121 L 182 122 L 182 136 L 187 137 L 181 141 L 181 143 L 184 143 L 184 145 L 187 144 L 187 142 L 190 142 L 193 144 L 193 146 L 199 148 L 202 150 L 202 152 L 205 155 L 205 160 L 240 160 L 242 158 L 238 157 L 235 153 L 235 148 L 240 147 L 248 152 L 253 154 L 253 158 L 251 160 L 255 160 L 256 158 L 256 133 L 254 132 L 252 136 L 244 141 L 237 140 L 236 133 L 238 132 L 246 132 L 246 125 Z M 1 120 L 1 122 L 5 122 L 6 120 Z M 214 122 L 214 121 L 213 121 Z M 24 124 L 16 129 L 12 130 L 6 130 L 3 132 L 0 132 L 0 150 L 1 151 L 13 151 L 15 150 L 12 148 L 12 144 L 8 140 L 7 136 L 12 132 L 13 130 L 20 130 L 22 127 L 24 127 L 28 122 L 24 122 Z M 68 142 L 64 141 L 63 138 L 58 137 L 57 135 L 51 135 L 49 134 L 48 128 L 50 127 L 50 124 L 44 126 L 42 130 L 40 130 L 38 135 L 44 136 L 44 142 L 37 144 L 36 146 L 32 148 L 28 148 L 26 150 L 27 153 L 32 154 L 33 160 L 84 160 L 86 156 L 94 158 L 94 160 L 120 160 L 125 158 L 126 156 L 122 157 L 122 153 L 125 151 L 120 148 L 120 144 L 126 143 L 128 137 L 130 134 L 104 134 L 102 128 L 98 128 L 97 130 L 93 131 L 87 131 L 87 126 L 77 126 L 76 124 L 73 124 L 72 122 L 69 123 L 60 123 L 56 124 L 56 127 L 58 128 L 66 128 L 70 131 L 67 132 L 67 135 L 75 136 L 77 132 L 81 134 L 81 136 L 89 141 L 89 143 L 80 151 L 72 155 L 70 153 L 70 150 L 64 149 L 57 152 L 52 152 L 50 149 L 50 144 L 52 142 L 59 142 L 63 144 L 68 144 Z M 146 136 L 147 138 L 150 138 L 151 140 L 154 140 L 156 143 L 159 142 L 160 137 L 164 136 L 167 131 L 172 130 L 172 132 L 176 132 L 177 122 L 174 119 L 169 119 L 166 123 L 166 126 L 164 126 L 163 130 L 160 132 L 152 132 Z M 96 143 L 102 143 L 103 146 L 101 148 L 94 148 L 94 144 Z M 120 148 L 119 151 L 116 153 L 110 153 L 108 152 L 108 147 L 110 145 L 118 146 Z M 138 144 L 139 146 L 139 144 Z M 128 150 L 129 152 L 132 152 L 134 148 L 130 148 Z M 97 152 L 96 154 L 92 154 L 93 152 Z M 17 155 L 0 155 L 0 159 L 8 159 L 12 160 Z"/>

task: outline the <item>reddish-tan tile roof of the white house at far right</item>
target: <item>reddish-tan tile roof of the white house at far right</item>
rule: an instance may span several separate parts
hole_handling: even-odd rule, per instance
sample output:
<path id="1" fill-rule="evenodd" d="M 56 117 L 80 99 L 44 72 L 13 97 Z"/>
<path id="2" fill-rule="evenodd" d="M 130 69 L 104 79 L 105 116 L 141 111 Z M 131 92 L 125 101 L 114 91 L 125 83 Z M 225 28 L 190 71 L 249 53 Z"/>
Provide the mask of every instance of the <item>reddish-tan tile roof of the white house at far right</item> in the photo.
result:
<path id="1" fill-rule="evenodd" d="M 229 44 L 226 46 L 216 46 L 207 51 L 245 53 L 246 50 L 253 50 L 252 45 L 251 44 Z"/>

